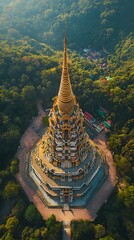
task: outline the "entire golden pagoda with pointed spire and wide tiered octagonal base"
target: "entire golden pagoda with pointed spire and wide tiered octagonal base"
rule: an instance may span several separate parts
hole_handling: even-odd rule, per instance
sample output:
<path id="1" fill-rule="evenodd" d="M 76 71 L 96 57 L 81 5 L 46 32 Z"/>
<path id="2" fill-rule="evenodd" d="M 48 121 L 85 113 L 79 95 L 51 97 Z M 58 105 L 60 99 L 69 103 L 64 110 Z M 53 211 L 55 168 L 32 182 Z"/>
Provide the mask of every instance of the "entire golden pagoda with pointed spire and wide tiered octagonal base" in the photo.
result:
<path id="1" fill-rule="evenodd" d="M 83 207 L 108 175 L 105 157 L 86 133 L 84 115 L 72 91 L 64 38 L 58 96 L 49 127 L 30 153 L 29 175 L 48 207 Z"/>

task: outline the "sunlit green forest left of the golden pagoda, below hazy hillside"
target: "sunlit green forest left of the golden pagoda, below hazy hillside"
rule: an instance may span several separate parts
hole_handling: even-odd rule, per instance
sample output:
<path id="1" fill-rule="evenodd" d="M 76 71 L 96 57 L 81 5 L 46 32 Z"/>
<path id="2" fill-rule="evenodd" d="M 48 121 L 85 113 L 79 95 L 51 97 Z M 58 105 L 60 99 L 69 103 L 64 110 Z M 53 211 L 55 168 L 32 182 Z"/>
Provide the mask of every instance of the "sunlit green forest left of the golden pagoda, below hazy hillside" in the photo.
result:
<path id="1" fill-rule="evenodd" d="M 22 193 L 14 158 L 24 129 L 37 115 L 36 102 L 49 106 L 56 94 L 59 63 L 50 47 L 28 38 L 1 41 L 0 56 L 0 239 L 60 240 L 62 224 L 53 216 L 42 220 Z"/>

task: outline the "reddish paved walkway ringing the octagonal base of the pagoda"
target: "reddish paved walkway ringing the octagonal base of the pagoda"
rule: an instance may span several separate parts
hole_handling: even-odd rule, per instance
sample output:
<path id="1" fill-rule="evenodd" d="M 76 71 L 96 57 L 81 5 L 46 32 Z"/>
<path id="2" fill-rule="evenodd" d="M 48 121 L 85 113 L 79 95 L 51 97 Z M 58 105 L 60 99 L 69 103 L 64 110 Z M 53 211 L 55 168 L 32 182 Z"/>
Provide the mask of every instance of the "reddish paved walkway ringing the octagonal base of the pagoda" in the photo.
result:
<path id="1" fill-rule="evenodd" d="M 102 204 L 108 199 L 112 189 L 116 183 L 116 170 L 113 164 L 113 158 L 111 152 L 107 149 L 105 135 L 99 134 L 98 137 L 94 139 L 94 142 L 97 146 L 106 154 L 106 161 L 109 165 L 109 177 L 104 182 L 102 187 L 96 193 L 94 198 L 90 201 L 87 208 L 82 209 L 70 209 L 70 211 L 63 211 L 62 209 L 52 209 L 47 208 L 37 193 L 33 190 L 30 183 L 25 177 L 25 158 L 26 154 L 29 152 L 30 148 L 40 139 L 36 131 L 42 125 L 42 116 L 45 116 L 45 112 L 41 108 L 41 105 L 38 105 L 39 116 L 33 119 L 30 127 L 25 131 L 24 135 L 21 138 L 21 147 L 18 148 L 17 157 L 20 160 L 19 163 L 19 173 L 17 174 L 17 179 L 27 194 L 29 201 L 33 202 L 44 219 L 47 219 L 51 214 L 55 214 L 58 221 L 64 221 L 65 223 L 70 222 L 71 220 L 78 219 L 88 219 L 93 221 L 97 212 L 102 206 Z M 64 227 L 64 240 L 69 239 L 70 230 L 68 227 Z"/>

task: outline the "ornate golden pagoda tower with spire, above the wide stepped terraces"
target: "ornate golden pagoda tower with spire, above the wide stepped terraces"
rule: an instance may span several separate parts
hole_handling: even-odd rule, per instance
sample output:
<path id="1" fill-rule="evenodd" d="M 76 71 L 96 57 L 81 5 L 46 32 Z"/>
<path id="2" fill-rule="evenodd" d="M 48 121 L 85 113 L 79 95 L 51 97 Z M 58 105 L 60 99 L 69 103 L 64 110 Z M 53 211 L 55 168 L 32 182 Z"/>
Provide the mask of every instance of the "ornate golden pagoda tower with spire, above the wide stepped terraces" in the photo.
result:
<path id="1" fill-rule="evenodd" d="M 68 74 L 65 38 L 59 93 L 49 114 L 49 128 L 43 143 L 46 158 L 55 166 L 74 167 L 86 159 L 89 144 L 83 121 Z"/>

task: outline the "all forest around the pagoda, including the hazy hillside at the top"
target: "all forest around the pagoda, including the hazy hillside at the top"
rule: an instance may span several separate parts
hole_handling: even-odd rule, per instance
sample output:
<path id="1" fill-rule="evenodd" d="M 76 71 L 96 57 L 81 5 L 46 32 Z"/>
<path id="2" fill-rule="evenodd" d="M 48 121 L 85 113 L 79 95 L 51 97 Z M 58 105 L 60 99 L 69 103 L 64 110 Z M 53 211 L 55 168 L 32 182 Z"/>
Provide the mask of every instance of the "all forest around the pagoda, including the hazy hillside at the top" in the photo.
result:
<path id="1" fill-rule="evenodd" d="M 79 49 L 69 53 L 74 93 L 82 109 L 94 116 L 98 107 L 107 109 L 112 121 L 108 146 L 117 168 L 112 196 L 94 223 L 72 222 L 72 239 L 134 239 L 133 4 L 133 0 L 0 1 L 0 239 L 61 237 L 61 223 L 53 215 L 42 220 L 16 182 L 14 156 L 21 135 L 37 115 L 37 101 L 49 108 L 57 94 L 62 54 L 45 43 L 61 48 L 65 20 L 70 48 Z M 103 52 L 97 60 L 87 58 L 80 48 L 89 45 L 107 46 L 113 52 L 105 56 Z"/>

